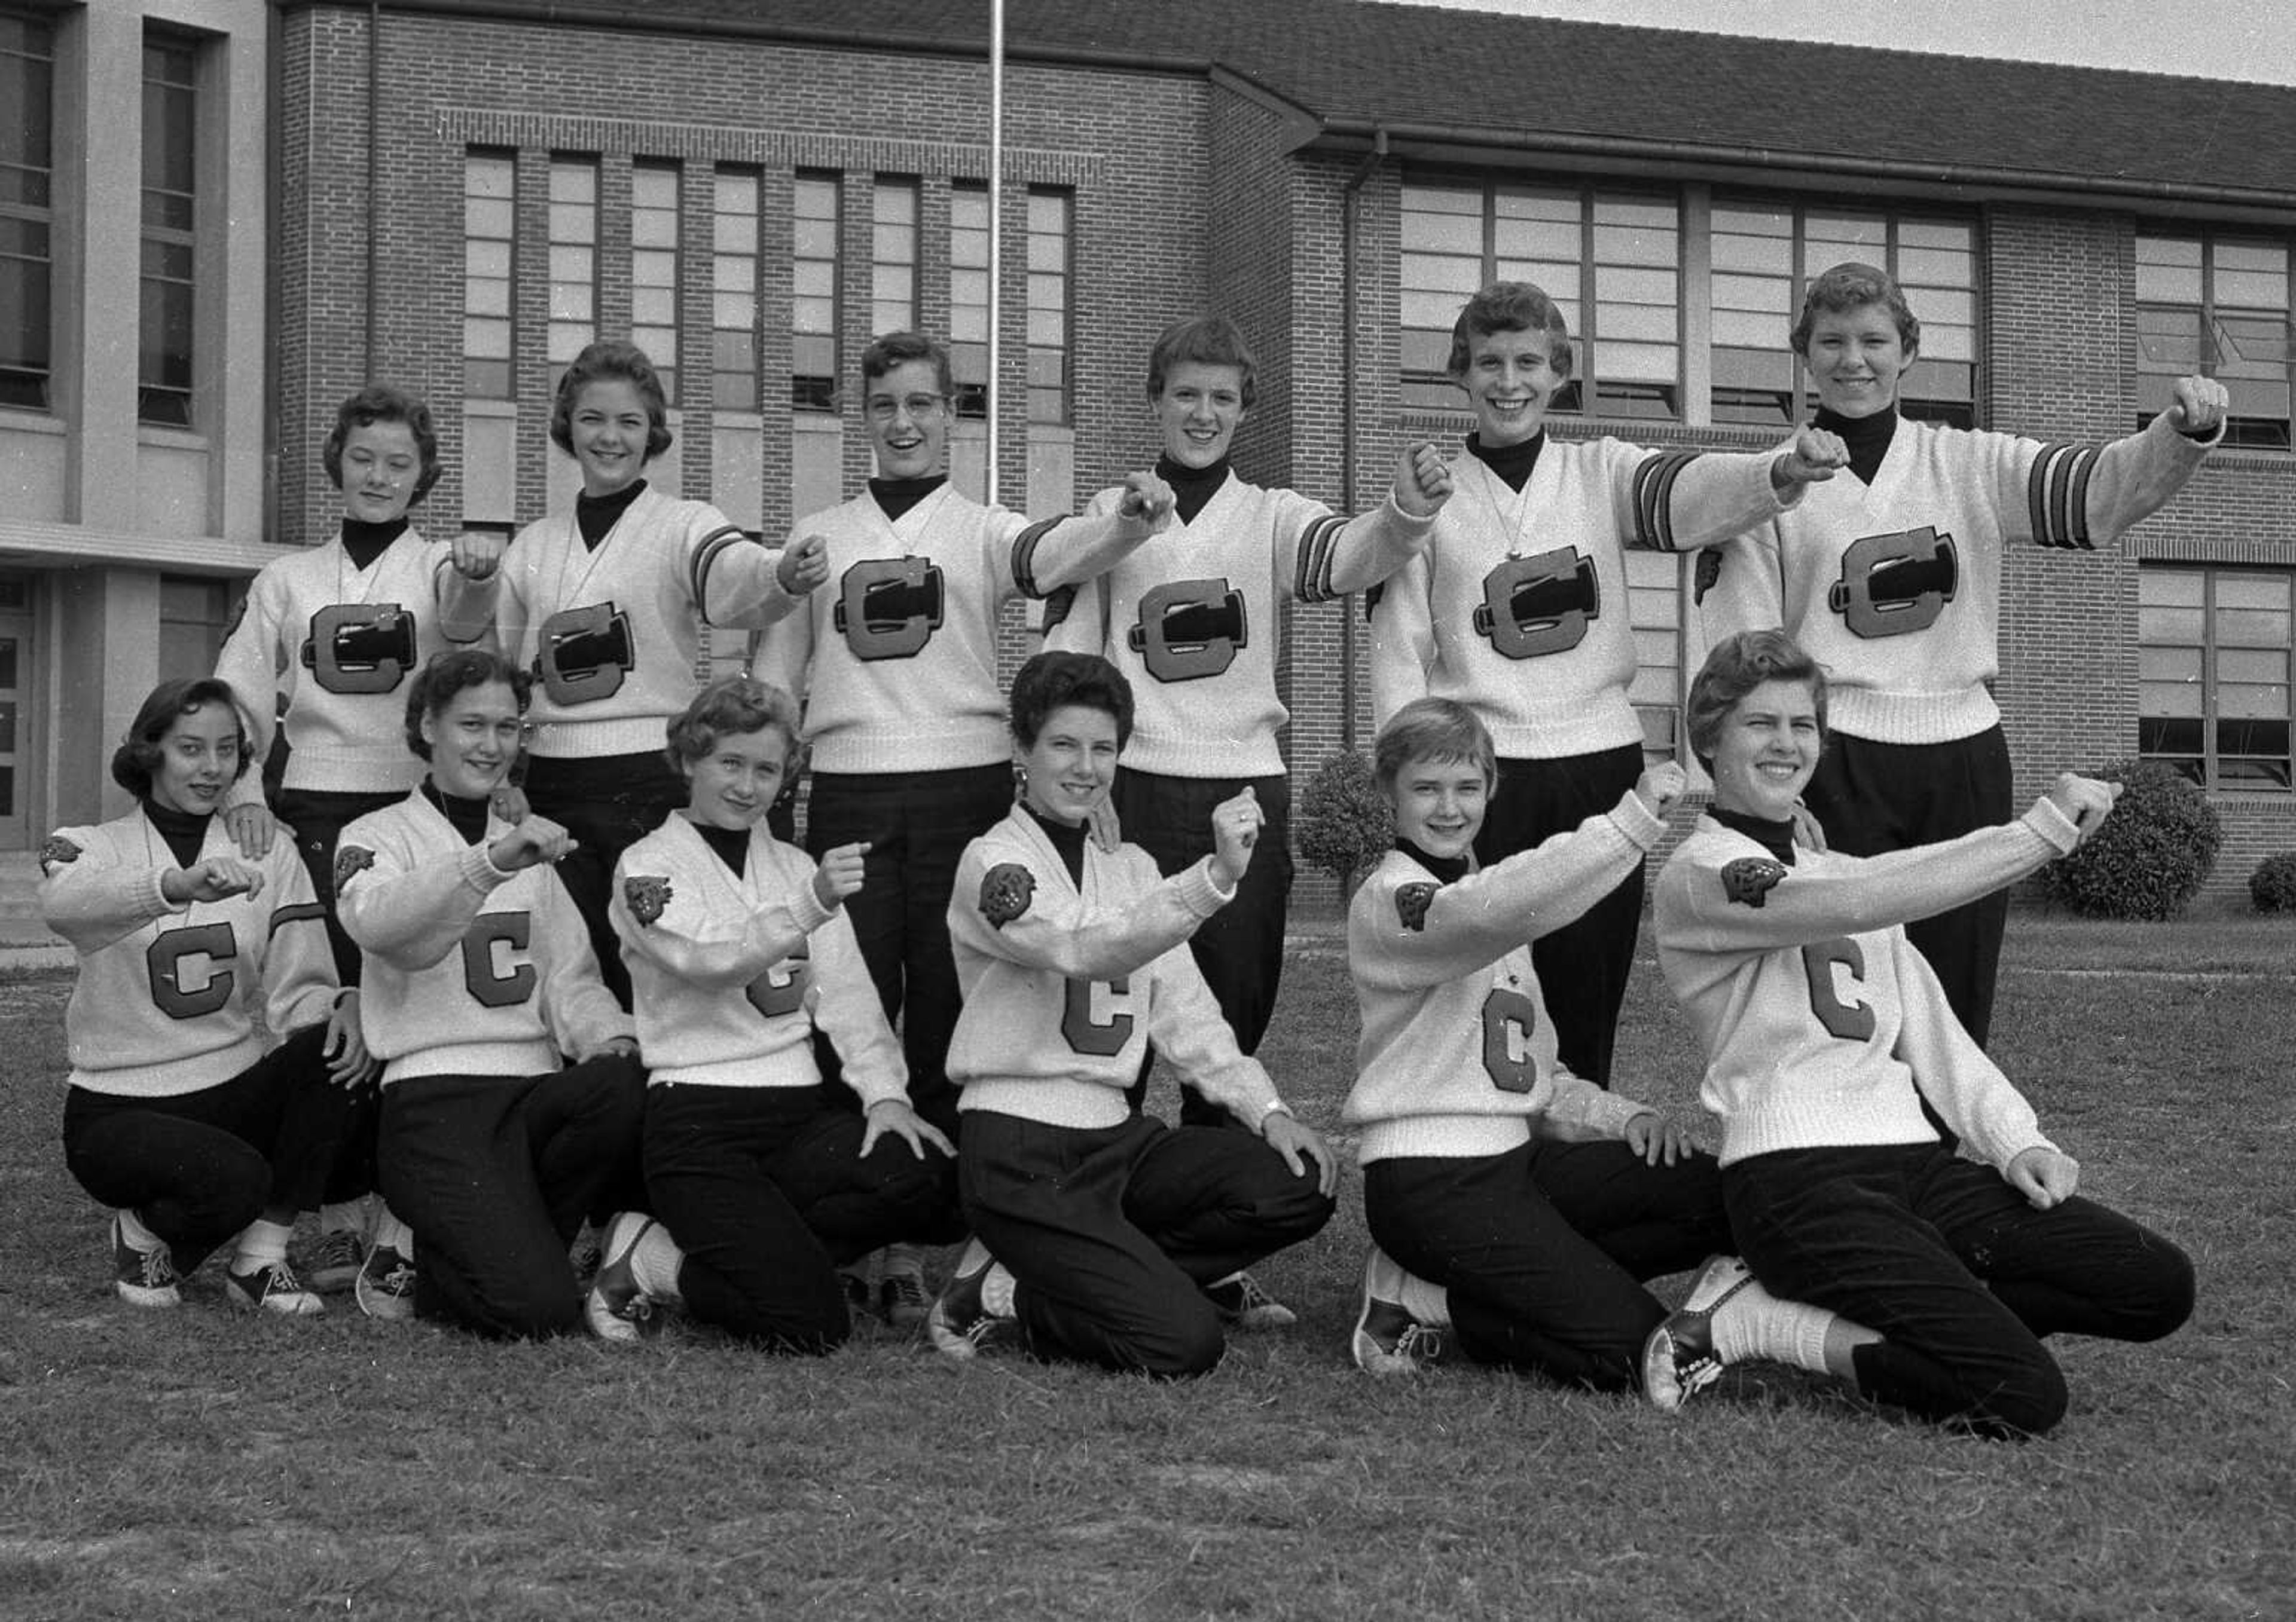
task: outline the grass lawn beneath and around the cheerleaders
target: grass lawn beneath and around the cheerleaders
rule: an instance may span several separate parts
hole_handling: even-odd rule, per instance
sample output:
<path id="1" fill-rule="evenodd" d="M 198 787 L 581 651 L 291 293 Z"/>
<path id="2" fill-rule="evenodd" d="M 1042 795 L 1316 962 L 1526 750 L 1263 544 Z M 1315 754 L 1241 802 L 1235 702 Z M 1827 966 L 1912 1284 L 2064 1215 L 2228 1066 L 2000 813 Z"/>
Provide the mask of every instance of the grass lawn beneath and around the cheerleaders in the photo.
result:
<path id="1" fill-rule="evenodd" d="M 2296 922 L 2018 913 L 1998 1055 L 2085 1188 L 2200 1264 L 2156 1347 L 2062 1342 L 2037 1445 L 1733 1372 L 1688 1413 L 1345 1356 L 1359 1182 L 1185 1388 L 673 1326 L 487 1347 L 108 1280 L 57 1147 L 62 977 L 0 984 L 5 1617 L 2296 1617 Z M 2110 970 L 2110 973 L 2105 973 Z M 1295 950 L 1270 1069 L 1336 1126 L 1355 1007 Z M 1621 1083 L 1692 1110 L 1651 966 Z M 1164 1097 L 1159 1092 L 1159 1097 Z"/>

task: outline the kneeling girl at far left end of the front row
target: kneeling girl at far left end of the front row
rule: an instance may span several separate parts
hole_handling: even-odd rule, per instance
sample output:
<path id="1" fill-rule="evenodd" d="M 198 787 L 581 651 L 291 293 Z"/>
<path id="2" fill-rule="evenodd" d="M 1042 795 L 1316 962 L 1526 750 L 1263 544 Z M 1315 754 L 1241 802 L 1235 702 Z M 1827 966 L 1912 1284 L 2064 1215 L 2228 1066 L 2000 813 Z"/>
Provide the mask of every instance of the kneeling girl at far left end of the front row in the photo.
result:
<path id="1" fill-rule="evenodd" d="M 239 856 L 216 817 L 248 769 L 232 688 L 163 681 L 113 755 L 135 810 L 48 835 L 39 911 L 80 954 L 64 1163 L 113 1207 L 119 1296 L 177 1305 L 179 1280 L 239 1234 L 225 1301 L 301 1317 L 321 1303 L 287 1266 L 287 1232 L 374 1067 L 303 863 L 285 842 Z"/>

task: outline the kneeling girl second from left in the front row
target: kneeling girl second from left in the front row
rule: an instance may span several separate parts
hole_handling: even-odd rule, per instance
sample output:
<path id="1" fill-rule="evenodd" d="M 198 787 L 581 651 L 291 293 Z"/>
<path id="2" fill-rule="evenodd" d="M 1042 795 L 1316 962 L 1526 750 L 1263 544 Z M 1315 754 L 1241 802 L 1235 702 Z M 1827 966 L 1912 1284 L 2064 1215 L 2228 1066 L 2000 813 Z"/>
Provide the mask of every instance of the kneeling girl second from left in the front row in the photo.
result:
<path id="1" fill-rule="evenodd" d="M 494 808 L 519 755 L 528 677 L 471 649 L 406 693 L 422 787 L 335 851 L 342 927 L 367 954 L 365 1026 L 383 1062 L 379 1172 L 416 1234 L 416 1308 L 480 1335 L 638 1328 L 583 1303 L 567 1246 L 641 1202 L 645 1071 L 590 957 L 549 817 Z"/>

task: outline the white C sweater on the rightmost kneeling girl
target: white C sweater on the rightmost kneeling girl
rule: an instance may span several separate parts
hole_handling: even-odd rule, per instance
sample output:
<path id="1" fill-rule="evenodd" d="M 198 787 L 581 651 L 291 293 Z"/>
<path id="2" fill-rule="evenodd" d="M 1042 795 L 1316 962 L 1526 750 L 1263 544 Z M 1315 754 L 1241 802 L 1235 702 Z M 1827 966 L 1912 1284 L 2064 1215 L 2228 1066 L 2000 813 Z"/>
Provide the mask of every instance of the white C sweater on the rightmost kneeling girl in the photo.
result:
<path id="1" fill-rule="evenodd" d="M 1903 925 L 2016 883 L 2078 844 L 2046 798 L 2023 819 L 1885 856 L 1777 860 L 1713 817 L 1658 876 L 1658 964 L 1706 1053 L 1722 1163 L 1773 1149 L 1936 1143 L 1922 1099 L 2007 1170 L 2032 1106 L 1954 1019 Z"/>

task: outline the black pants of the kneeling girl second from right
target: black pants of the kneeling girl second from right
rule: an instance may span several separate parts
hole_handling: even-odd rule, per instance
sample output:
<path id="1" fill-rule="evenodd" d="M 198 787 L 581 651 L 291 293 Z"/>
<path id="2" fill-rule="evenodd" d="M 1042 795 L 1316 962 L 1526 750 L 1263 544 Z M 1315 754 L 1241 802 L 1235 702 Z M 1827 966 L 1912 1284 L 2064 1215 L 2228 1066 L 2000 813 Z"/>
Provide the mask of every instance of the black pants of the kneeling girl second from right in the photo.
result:
<path id="1" fill-rule="evenodd" d="M 1371 1237 L 1451 1292 L 1476 1363 L 1630 1390 L 1667 1308 L 1639 1280 L 1729 1248 L 1706 1154 L 1649 1165 L 1623 1143 L 1527 1143 L 1476 1159 L 1364 1168 Z"/>

